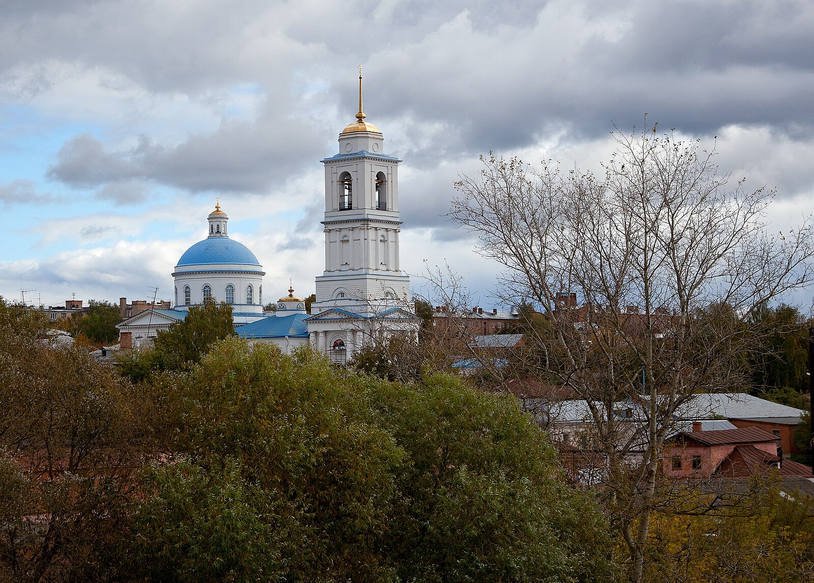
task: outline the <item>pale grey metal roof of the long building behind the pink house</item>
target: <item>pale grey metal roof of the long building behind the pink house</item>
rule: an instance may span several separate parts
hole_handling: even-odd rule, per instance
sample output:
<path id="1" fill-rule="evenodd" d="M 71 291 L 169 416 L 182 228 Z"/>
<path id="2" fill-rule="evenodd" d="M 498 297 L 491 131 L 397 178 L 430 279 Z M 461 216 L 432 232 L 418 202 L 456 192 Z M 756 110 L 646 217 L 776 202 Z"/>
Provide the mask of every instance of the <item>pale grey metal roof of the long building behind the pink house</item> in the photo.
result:
<path id="1" fill-rule="evenodd" d="M 778 423 L 798 424 L 804 412 L 748 393 L 712 393 L 695 395 L 679 407 L 676 415 L 680 419 L 718 416 L 724 419 L 776 420 Z M 783 418 L 786 420 L 782 421 Z"/>

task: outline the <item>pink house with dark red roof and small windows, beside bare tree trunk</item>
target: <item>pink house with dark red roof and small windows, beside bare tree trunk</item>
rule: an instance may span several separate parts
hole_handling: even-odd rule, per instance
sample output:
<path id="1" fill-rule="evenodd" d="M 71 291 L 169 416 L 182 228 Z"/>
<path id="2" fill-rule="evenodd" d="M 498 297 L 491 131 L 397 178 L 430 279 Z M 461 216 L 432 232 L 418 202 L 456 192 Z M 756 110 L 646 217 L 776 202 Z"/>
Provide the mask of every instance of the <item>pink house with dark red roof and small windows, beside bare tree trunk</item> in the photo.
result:
<path id="1" fill-rule="evenodd" d="M 759 427 L 682 432 L 665 444 L 662 469 L 679 479 L 743 477 L 770 468 L 781 476 L 812 476 L 812 468 L 777 455 L 779 442 Z"/>

